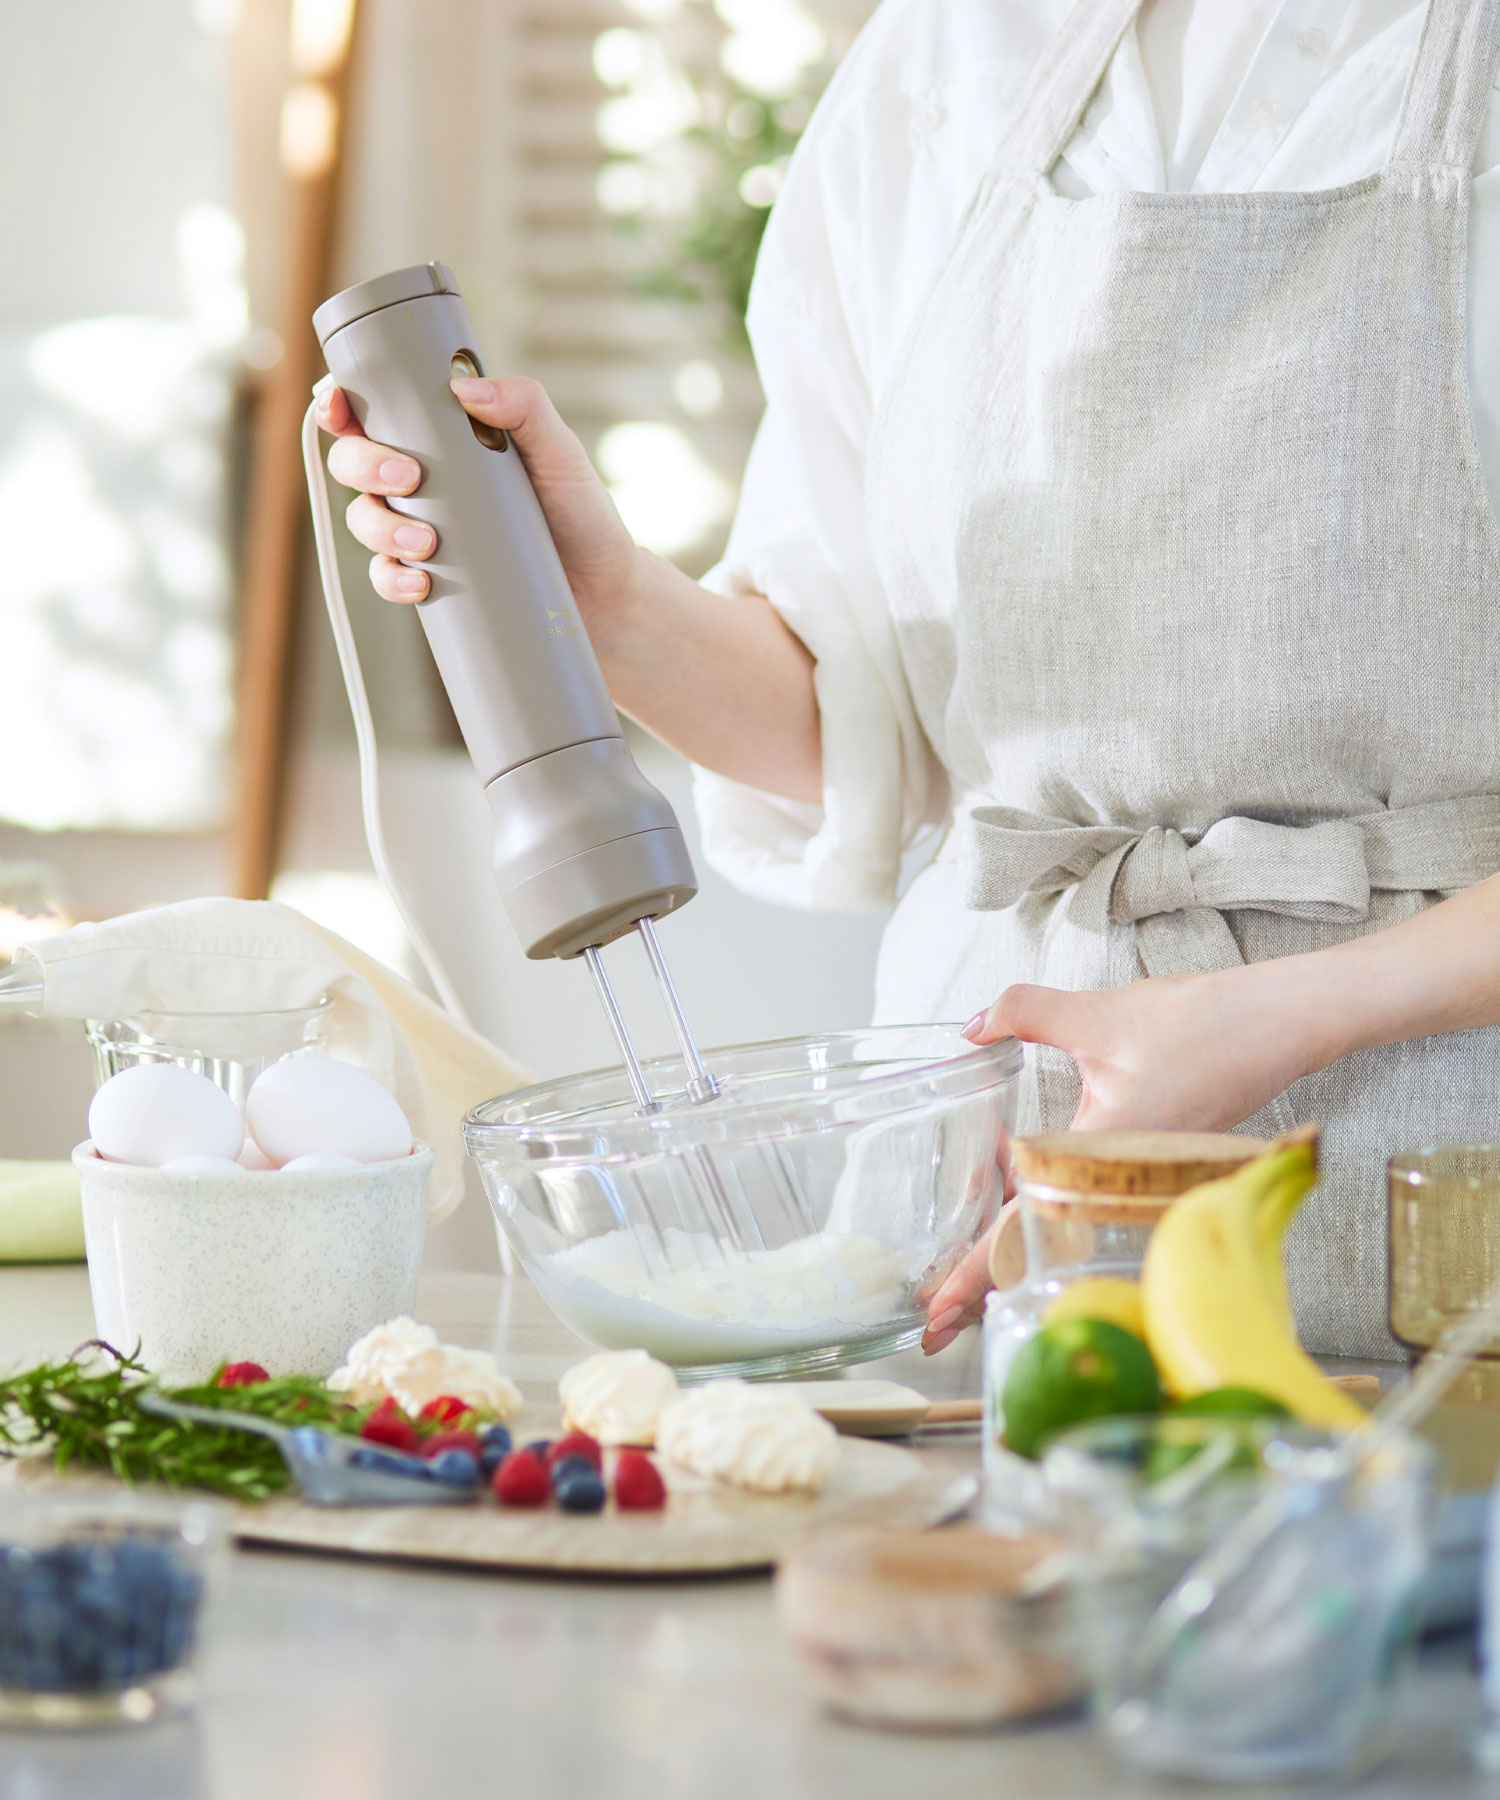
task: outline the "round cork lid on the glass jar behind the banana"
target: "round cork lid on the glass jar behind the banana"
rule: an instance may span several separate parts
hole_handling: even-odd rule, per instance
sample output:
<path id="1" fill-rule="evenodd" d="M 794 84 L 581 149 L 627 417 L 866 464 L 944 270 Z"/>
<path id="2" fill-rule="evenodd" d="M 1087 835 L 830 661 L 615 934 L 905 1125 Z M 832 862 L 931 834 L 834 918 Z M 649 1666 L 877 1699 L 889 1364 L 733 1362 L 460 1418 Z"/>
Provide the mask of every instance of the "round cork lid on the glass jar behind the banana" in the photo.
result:
<path id="1" fill-rule="evenodd" d="M 1012 1145 L 1019 1181 L 1071 1193 L 1176 1199 L 1270 1150 L 1268 1138 L 1190 1130 L 1053 1130 Z"/>

